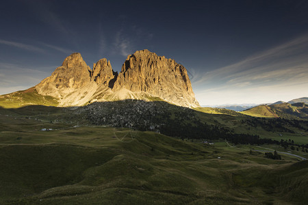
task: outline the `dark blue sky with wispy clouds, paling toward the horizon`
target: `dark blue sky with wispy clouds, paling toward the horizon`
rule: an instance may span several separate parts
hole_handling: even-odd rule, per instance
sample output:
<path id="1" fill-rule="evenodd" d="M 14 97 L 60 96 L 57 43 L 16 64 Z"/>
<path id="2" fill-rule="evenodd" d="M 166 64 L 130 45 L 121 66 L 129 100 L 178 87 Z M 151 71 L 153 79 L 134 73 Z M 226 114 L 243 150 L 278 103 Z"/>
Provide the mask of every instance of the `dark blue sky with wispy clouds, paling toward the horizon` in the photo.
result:
<path id="1" fill-rule="evenodd" d="M 79 52 L 92 68 L 149 49 L 188 70 L 200 105 L 308 96 L 308 1 L 1 1 L 0 94 Z"/>

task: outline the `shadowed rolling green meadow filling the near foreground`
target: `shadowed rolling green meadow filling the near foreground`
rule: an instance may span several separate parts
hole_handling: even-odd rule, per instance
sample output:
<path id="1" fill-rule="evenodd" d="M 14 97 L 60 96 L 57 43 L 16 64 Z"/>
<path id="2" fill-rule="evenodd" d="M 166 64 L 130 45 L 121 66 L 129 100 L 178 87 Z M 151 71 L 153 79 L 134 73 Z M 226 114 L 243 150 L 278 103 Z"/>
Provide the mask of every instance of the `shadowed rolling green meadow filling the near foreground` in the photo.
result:
<path id="1" fill-rule="evenodd" d="M 281 203 L 307 191 L 307 163 L 292 168 L 295 159 L 264 159 L 248 147 L 101 127 L 16 136 L 0 135 L 1 204 Z M 283 188 L 290 182 L 299 192 Z"/>

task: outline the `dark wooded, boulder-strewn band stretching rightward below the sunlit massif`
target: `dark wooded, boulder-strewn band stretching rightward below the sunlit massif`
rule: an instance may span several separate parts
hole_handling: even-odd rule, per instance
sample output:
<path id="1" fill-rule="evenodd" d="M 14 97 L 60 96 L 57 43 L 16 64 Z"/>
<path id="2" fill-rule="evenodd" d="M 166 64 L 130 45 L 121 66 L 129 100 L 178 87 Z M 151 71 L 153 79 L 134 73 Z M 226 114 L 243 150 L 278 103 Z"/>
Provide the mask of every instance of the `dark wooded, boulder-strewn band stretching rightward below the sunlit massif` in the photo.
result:
<path id="1" fill-rule="evenodd" d="M 231 128 L 207 124 L 196 115 L 196 111 L 177 107 L 166 102 L 144 102 L 123 100 L 120 102 L 97 102 L 85 107 L 87 118 L 93 124 L 110 124 L 115 127 L 136 128 L 139 131 L 159 131 L 170 137 L 182 139 L 227 139 L 235 144 L 274 143 L 281 146 L 296 146 L 291 141 L 264 139 L 259 135 L 235 133 Z M 307 131 L 307 120 L 285 120 L 266 118 L 246 118 L 243 124 L 261 126 L 267 131 L 294 133 L 289 127 Z M 308 148 L 303 146 L 302 148 Z"/>

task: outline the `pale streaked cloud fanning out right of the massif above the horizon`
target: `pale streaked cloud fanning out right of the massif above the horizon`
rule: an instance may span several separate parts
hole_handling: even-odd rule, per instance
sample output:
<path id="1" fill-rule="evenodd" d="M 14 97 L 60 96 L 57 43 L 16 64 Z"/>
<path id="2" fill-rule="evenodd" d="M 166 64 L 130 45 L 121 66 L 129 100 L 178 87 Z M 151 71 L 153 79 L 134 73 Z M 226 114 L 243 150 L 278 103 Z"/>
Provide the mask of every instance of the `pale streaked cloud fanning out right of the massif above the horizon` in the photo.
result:
<path id="1" fill-rule="evenodd" d="M 294 94 L 308 96 L 307 79 L 308 35 L 305 35 L 196 77 L 193 86 L 201 103 L 209 104 L 211 100 L 211 104 L 224 104 L 235 103 L 231 100 L 240 103 L 283 100 L 283 96 L 292 98 Z M 214 98 L 219 102 L 214 102 Z"/>

